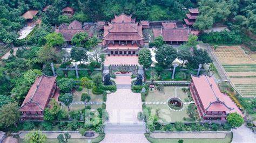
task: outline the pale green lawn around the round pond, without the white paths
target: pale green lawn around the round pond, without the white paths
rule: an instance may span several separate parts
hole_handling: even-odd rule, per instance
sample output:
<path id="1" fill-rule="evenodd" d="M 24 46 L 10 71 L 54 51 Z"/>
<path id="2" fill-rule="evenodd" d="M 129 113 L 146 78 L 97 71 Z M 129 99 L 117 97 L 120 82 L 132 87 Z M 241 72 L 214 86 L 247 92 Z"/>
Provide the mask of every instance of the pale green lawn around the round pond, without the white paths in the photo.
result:
<path id="1" fill-rule="evenodd" d="M 149 95 L 146 96 L 145 102 L 166 102 L 170 97 L 175 96 L 176 86 L 165 86 L 163 91 L 158 90 L 149 90 Z M 188 99 L 186 92 L 182 91 L 181 88 L 177 89 L 177 97 L 181 99 Z M 172 111 L 166 104 L 157 104 L 157 105 L 146 105 L 152 108 L 153 110 L 159 110 L 159 117 L 165 119 L 167 122 L 173 121 L 184 121 L 184 117 L 187 116 L 187 105 L 183 111 Z"/>

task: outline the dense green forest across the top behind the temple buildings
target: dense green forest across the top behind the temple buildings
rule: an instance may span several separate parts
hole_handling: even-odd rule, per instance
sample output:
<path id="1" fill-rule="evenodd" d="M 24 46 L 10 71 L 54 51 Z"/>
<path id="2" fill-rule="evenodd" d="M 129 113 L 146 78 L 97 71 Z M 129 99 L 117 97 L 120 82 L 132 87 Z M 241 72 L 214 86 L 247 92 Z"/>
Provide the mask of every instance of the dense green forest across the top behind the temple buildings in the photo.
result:
<path id="1" fill-rule="evenodd" d="M 47 5 L 52 6 L 46 12 L 42 12 Z M 75 9 L 72 18 L 61 15 L 61 10 L 66 6 Z M 44 26 L 43 32 L 36 34 L 44 36 L 51 31 L 50 26 L 69 23 L 73 19 L 81 22 L 97 22 L 97 20 L 109 20 L 114 14 L 126 13 L 132 14 L 138 20 L 183 20 L 187 9 L 196 7 L 199 8 L 200 15 L 194 27 L 198 30 L 206 30 L 216 23 L 223 23 L 234 31 L 256 33 L 256 3 L 253 0 L 2 0 L 0 1 L 0 41 L 16 42 L 16 45 L 19 45 L 16 41 L 17 31 L 25 24 L 25 19 L 21 16 L 29 9 L 39 10 L 38 16 L 42 18 Z M 32 43 L 43 42 L 40 37 L 39 41 L 30 40 Z"/>

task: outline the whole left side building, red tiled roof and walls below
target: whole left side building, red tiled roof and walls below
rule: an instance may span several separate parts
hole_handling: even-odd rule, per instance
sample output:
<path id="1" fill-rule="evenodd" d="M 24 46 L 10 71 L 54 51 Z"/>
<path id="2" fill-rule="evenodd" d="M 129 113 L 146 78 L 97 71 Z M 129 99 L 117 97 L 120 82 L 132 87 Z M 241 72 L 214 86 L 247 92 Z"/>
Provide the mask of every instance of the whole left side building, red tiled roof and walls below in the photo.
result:
<path id="1" fill-rule="evenodd" d="M 56 76 L 42 75 L 36 78 L 35 83 L 29 89 L 21 108 L 21 119 L 43 120 L 44 109 L 51 98 L 58 99 L 59 89 L 56 85 Z"/>

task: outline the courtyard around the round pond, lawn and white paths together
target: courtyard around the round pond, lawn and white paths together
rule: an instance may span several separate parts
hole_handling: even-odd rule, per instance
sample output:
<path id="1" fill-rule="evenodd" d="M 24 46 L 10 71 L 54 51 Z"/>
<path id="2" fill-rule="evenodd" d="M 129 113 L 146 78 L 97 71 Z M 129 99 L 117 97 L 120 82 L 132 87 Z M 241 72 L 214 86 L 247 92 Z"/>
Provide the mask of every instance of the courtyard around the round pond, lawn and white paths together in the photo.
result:
<path id="1" fill-rule="evenodd" d="M 159 117 L 167 122 L 175 121 L 195 121 L 191 120 L 187 115 L 188 105 L 192 103 L 190 91 L 183 91 L 183 88 L 178 86 L 165 86 L 163 91 L 157 89 L 149 90 L 149 95 L 146 96 L 145 104 L 152 110 L 158 111 Z M 183 103 L 183 108 L 173 110 L 168 105 L 169 99 L 178 98 Z M 184 120 L 186 118 L 186 120 Z"/>

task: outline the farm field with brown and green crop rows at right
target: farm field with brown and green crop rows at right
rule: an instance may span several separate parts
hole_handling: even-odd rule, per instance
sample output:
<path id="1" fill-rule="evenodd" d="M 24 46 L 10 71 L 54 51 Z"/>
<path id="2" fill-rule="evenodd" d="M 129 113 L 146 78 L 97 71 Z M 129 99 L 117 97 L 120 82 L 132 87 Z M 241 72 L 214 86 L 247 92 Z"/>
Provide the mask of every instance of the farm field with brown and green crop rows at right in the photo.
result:
<path id="1" fill-rule="evenodd" d="M 231 82 L 243 96 L 256 96 L 256 60 L 240 46 L 220 46 L 214 54 L 226 70 Z"/>

